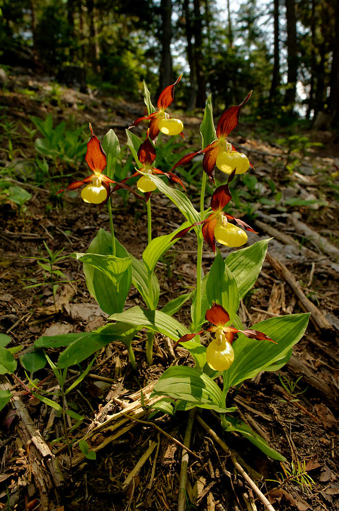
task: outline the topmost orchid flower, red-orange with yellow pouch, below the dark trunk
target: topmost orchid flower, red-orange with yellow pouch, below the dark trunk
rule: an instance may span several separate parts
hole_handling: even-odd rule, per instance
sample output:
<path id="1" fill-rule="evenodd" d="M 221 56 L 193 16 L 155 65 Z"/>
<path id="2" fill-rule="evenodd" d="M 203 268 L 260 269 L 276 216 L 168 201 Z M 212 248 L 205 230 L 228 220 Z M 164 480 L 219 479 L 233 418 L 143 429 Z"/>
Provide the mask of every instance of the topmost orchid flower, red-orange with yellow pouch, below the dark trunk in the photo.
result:
<path id="1" fill-rule="evenodd" d="M 170 106 L 174 99 L 174 87 L 181 80 L 182 75 L 174 82 L 172 85 L 168 85 L 161 92 L 158 98 L 158 110 L 156 112 L 150 113 L 149 115 L 145 115 L 144 117 L 140 117 L 136 119 L 129 128 L 134 128 L 141 121 L 149 120 L 149 137 L 151 140 L 154 140 L 159 135 L 161 131 L 165 135 L 182 135 L 182 129 L 184 129 L 184 125 L 180 121 L 180 119 L 171 119 L 169 114 L 165 112 L 166 108 Z"/>

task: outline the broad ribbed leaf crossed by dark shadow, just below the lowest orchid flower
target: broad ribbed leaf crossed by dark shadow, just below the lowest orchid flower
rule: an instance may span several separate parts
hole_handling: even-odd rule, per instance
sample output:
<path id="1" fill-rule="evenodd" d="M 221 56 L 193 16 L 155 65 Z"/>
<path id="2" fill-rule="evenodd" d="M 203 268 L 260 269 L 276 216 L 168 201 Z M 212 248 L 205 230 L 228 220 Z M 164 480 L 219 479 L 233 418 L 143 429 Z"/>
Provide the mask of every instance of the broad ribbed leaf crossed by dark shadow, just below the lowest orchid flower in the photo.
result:
<path id="1" fill-rule="evenodd" d="M 193 367 L 176 365 L 166 369 L 155 384 L 151 396 L 164 394 L 172 399 L 194 403 L 199 408 L 225 411 L 218 385 Z"/>

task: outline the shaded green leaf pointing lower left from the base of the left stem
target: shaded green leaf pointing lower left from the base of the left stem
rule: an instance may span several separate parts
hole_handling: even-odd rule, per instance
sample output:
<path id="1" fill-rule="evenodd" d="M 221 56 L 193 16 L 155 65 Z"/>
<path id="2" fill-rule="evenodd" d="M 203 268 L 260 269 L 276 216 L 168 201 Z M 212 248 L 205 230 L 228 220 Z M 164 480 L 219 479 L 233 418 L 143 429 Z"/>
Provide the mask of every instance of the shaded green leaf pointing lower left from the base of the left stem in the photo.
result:
<path id="1" fill-rule="evenodd" d="M 59 368 L 64 368 L 79 364 L 110 342 L 115 340 L 124 342 L 126 336 L 131 333 L 134 335 L 135 329 L 126 323 L 108 324 L 96 332 L 84 332 L 60 354 L 57 365 Z"/>

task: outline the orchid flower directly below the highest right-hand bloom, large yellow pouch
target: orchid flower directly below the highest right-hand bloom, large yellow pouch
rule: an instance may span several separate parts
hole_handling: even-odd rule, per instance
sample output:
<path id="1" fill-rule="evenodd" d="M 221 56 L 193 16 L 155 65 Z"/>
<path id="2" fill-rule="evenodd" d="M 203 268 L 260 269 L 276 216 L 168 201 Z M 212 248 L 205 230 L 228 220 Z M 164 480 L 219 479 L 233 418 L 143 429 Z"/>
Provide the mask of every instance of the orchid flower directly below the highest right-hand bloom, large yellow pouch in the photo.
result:
<path id="1" fill-rule="evenodd" d="M 202 236 L 204 237 L 205 242 L 208 243 L 215 252 L 216 242 L 226 245 L 226 247 L 240 247 L 247 241 L 247 234 L 245 231 L 237 225 L 228 223 L 228 220 L 235 220 L 239 225 L 245 227 L 246 230 L 256 233 L 252 227 L 243 220 L 240 220 L 240 218 L 233 217 L 232 215 L 228 215 L 228 213 L 222 211 L 232 198 L 228 183 L 233 179 L 234 174 L 235 172 L 233 170 L 228 178 L 227 184 L 223 184 L 218 187 L 212 195 L 211 208 L 213 213 L 208 215 L 205 220 L 195 222 L 189 227 L 186 227 L 186 229 L 182 229 L 173 237 L 173 239 L 182 238 L 182 236 L 185 236 L 192 227 L 202 224 Z"/>

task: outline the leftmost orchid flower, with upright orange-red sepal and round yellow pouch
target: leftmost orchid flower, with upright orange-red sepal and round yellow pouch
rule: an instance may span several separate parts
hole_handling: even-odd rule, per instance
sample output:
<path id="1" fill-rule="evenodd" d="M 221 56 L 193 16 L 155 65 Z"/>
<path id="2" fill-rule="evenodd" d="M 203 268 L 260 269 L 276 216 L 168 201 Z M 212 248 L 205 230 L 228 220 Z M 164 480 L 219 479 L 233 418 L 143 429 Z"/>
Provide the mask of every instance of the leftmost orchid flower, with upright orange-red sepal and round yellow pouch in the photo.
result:
<path id="1" fill-rule="evenodd" d="M 67 188 L 59 190 L 56 195 L 67 190 L 75 190 L 83 184 L 89 183 L 82 190 L 81 198 L 84 202 L 103 205 L 108 201 L 111 195 L 111 188 L 108 183 L 116 183 L 116 181 L 113 181 L 113 179 L 102 174 L 102 171 L 107 165 L 106 154 L 102 149 L 100 141 L 94 135 L 91 124 L 89 125 L 89 128 L 91 130 L 91 138 L 87 143 L 85 160 L 87 161 L 89 168 L 93 171 L 93 175 L 85 177 L 82 181 L 74 181 L 70 183 Z"/>

